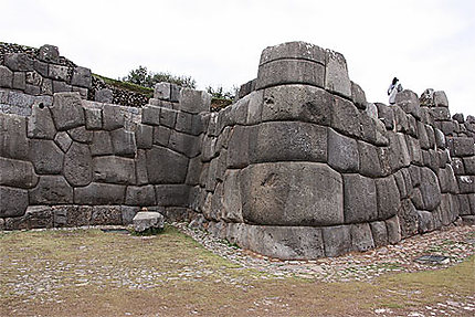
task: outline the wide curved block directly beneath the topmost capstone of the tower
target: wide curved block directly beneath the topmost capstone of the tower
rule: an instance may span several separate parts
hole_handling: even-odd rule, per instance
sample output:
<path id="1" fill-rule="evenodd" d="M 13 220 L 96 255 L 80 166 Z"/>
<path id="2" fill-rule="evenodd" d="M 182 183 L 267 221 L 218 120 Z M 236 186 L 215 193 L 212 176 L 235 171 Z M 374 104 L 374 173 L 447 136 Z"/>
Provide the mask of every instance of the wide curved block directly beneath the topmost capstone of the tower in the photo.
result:
<path id="1" fill-rule="evenodd" d="M 275 60 L 258 66 L 255 85 L 256 89 L 284 84 L 306 84 L 324 87 L 324 80 L 325 66 L 321 64 L 306 60 Z"/>

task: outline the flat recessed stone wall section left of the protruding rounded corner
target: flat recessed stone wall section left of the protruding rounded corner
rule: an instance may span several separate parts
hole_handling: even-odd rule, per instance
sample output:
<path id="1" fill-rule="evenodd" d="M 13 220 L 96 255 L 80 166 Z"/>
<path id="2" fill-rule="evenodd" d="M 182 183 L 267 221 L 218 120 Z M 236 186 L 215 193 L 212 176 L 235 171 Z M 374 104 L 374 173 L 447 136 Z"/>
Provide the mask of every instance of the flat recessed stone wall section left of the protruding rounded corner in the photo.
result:
<path id="1" fill-rule="evenodd" d="M 210 98 L 161 86 L 172 94 L 144 109 L 57 93 L 34 103 L 31 116 L 1 113 L 0 229 L 127 224 L 142 208 L 187 214 L 197 110 Z"/>

